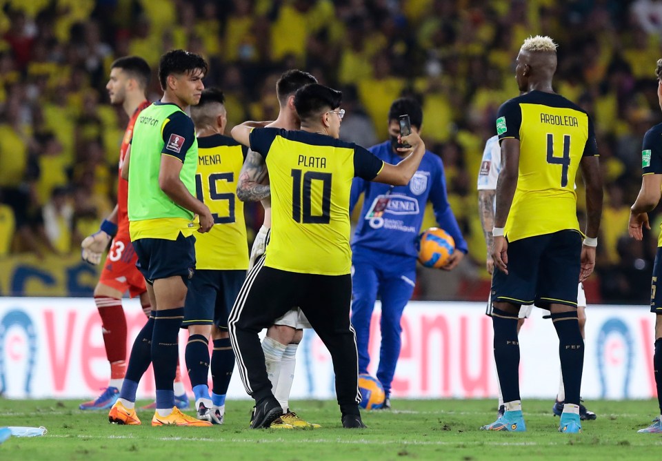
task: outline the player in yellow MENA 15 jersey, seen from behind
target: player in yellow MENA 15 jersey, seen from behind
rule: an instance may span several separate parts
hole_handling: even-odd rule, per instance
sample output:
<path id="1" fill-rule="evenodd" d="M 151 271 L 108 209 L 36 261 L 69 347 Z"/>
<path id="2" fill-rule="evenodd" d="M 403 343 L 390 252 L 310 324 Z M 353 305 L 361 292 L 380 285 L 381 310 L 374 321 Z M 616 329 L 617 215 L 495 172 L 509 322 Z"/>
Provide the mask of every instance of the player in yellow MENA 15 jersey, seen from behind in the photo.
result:
<path id="1" fill-rule="evenodd" d="M 228 315 L 246 277 L 248 248 L 243 203 L 237 200 L 237 178 L 248 148 L 223 136 L 227 123 L 223 92 L 203 90 L 191 107 L 198 139 L 197 198 L 214 217 L 214 227 L 195 240 L 196 272 L 185 302 L 182 328 L 188 328 L 186 367 L 195 395 L 198 418 L 223 424 L 234 353 L 228 335 Z M 211 362 L 209 338 L 214 349 Z M 212 369 L 212 395 L 208 388 Z"/>

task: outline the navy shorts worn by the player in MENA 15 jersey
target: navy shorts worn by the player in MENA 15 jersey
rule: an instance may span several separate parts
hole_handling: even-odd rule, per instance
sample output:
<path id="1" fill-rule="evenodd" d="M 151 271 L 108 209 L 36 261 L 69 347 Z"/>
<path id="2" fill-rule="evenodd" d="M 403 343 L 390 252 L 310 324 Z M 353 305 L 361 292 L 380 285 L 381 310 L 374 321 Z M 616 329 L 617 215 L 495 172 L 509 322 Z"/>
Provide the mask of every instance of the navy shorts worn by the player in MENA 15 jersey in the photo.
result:
<path id="1" fill-rule="evenodd" d="M 213 324 L 227 330 L 230 311 L 245 278 L 246 271 L 195 271 L 186 294 L 181 328 Z"/>

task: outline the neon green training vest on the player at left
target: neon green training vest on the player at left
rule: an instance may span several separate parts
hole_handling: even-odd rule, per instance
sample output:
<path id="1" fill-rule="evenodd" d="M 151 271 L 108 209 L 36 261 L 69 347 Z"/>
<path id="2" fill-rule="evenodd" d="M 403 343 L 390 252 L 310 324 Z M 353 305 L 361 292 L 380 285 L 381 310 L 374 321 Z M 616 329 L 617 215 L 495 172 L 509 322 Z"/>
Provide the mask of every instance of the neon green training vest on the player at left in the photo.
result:
<path id="1" fill-rule="evenodd" d="M 191 211 L 172 202 L 159 187 L 161 150 L 165 145 L 163 126 L 175 112 L 183 112 L 183 110 L 174 104 L 152 104 L 140 112 L 136 121 L 129 156 L 129 221 L 193 218 Z M 193 139 L 193 144 L 186 153 L 179 179 L 191 195 L 195 196 L 198 141 L 195 137 Z"/>

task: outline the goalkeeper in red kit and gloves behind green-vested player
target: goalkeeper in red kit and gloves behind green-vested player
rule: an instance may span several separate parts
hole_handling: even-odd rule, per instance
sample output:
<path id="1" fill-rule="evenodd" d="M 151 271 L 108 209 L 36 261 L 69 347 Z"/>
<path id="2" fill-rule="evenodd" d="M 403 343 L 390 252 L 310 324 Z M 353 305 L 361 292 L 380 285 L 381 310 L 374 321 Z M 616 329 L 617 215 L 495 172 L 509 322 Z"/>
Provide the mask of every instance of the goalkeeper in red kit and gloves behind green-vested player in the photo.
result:
<path id="1" fill-rule="evenodd" d="M 122 144 L 119 149 L 117 181 L 117 204 L 101 223 L 99 232 L 86 237 L 81 243 L 81 257 L 89 264 L 101 262 L 101 255 L 110 243 L 110 251 L 101 270 L 101 277 L 94 287 L 94 303 L 97 304 L 102 322 L 103 345 L 110 363 L 110 381 L 96 400 L 80 404 L 81 410 L 109 409 L 119 396 L 126 373 L 126 316 L 122 308 L 122 296 L 139 296 L 143 312 L 150 315 L 151 302 L 147 294 L 145 279 L 136 268 L 137 256 L 129 236 L 127 216 L 128 183 L 121 177 L 121 168 L 133 136 L 133 129 L 141 110 L 150 105 L 146 92 L 152 72 L 148 63 L 137 56 L 121 57 L 110 66 L 110 78 L 106 84 L 110 104 L 121 104 L 129 117 Z M 179 369 L 177 370 L 179 377 Z M 176 380 L 177 406 L 188 406 L 183 383 Z"/>

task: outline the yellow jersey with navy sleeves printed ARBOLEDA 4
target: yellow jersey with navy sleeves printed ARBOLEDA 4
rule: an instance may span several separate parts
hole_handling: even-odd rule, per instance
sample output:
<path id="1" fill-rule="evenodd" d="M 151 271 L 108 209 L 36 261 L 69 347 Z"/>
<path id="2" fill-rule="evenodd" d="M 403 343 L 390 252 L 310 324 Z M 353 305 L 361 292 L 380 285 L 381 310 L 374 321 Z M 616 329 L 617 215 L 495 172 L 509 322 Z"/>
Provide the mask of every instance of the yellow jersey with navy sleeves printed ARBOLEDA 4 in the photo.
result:
<path id="1" fill-rule="evenodd" d="M 579 231 L 575 175 L 583 156 L 597 155 L 588 114 L 561 95 L 531 91 L 506 101 L 496 117 L 499 141 L 520 142 L 517 188 L 505 223 L 508 241 Z"/>

